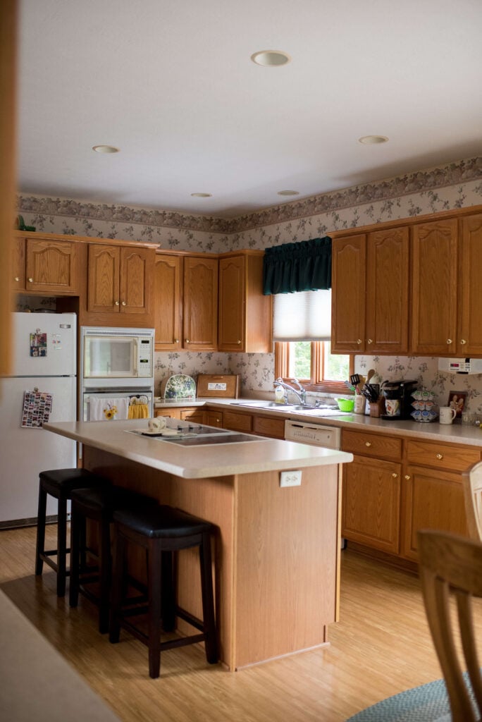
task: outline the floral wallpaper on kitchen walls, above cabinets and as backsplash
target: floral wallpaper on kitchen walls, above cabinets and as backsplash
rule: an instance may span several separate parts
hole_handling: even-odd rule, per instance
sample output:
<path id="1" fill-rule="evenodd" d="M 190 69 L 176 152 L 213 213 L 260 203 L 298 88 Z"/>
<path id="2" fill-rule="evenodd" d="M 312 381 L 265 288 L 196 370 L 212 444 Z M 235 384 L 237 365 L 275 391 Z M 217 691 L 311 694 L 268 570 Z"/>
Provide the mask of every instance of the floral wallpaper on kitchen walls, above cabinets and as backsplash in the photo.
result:
<path id="1" fill-rule="evenodd" d="M 221 253 L 267 248 L 329 235 L 333 230 L 482 204 L 482 158 L 460 160 L 344 191 L 323 193 L 235 219 L 183 215 L 69 199 L 21 195 L 18 212 L 38 232 L 149 240 L 161 248 Z M 30 303 L 25 301 L 22 303 Z M 35 308 L 39 308 L 39 303 Z M 467 406 L 482 417 L 482 375 L 440 373 L 438 360 L 356 357 L 356 371 L 374 368 L 377 380 L 416 378 L 445 405 L 449 391 L 467 391 Z M 171 373 L 239 373 L 242 395 L 273 391 L 273 354 L 157 353 L 155 383 Z"/>

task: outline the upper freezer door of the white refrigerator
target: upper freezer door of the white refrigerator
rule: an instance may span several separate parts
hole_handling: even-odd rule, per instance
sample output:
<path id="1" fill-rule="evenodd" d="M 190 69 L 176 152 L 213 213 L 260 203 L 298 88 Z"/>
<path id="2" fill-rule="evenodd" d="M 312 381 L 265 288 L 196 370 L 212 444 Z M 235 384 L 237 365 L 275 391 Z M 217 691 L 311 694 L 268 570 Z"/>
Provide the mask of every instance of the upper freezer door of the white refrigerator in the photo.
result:
<path id="1" fill-rule="evenodd" d="M 13 313 L 12 316 L 12 375 L 76 375 L 75 313 Z"/>

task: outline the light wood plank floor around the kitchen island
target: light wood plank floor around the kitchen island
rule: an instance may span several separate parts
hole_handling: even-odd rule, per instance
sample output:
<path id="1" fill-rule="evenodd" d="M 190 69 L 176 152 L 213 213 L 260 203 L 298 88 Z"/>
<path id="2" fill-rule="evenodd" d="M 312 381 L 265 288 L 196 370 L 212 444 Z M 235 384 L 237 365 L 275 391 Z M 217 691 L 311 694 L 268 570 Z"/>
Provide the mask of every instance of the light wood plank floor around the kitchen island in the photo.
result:
<path id="1" fill-rule="evenodd" d="M 52 546 L 55 533 L 50 526 Z M 52 570 L 35 578 L 34 552 L 35 529 L 0 531 L 1 589 L 125 722 L 342 722 L 442 676 L 416 576 L 349 549 L 329 646 L 234 673 L 209 666 L 203 648 L 190 646 L 163 655 L 157 680 L 147 674 L 144 645 L 125 633 L 110 645 L 87 600 L 69 609 L 67 597 L 56 597 Z M 482 631 L 480 606 L 476 612 Z"/>

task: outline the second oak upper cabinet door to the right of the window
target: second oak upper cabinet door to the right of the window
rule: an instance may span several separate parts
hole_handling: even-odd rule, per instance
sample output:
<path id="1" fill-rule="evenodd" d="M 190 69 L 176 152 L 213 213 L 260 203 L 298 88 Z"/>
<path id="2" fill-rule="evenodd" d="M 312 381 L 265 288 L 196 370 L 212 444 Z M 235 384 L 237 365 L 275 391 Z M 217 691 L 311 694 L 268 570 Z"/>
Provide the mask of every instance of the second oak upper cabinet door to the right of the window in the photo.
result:
<path id="1" fill-rule="evenodd" d="M 408 244 L 408 227 L 368 235 L 368 353 L 408 352 Z"/>

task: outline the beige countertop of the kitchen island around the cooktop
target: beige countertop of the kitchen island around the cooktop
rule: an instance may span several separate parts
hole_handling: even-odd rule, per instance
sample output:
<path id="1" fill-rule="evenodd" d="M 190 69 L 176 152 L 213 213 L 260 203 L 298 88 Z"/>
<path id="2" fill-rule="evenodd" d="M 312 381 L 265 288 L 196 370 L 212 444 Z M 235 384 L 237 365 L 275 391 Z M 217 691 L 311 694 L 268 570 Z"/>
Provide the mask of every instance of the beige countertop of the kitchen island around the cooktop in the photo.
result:
<path id="1" fill-rule="evenodd" d="M 175 423 L 178 425 L 179 422 Z M 353 455 L 344 451 L 263 437 L 251 437 L 244 443 L 177 445 L 165 439 L 135 433 L 148 430 L 146 419 L 56 422 L 45 424 L 43 428 L 186 479 L 302 469 L 353 461 Z"/>

